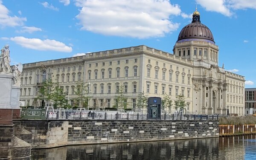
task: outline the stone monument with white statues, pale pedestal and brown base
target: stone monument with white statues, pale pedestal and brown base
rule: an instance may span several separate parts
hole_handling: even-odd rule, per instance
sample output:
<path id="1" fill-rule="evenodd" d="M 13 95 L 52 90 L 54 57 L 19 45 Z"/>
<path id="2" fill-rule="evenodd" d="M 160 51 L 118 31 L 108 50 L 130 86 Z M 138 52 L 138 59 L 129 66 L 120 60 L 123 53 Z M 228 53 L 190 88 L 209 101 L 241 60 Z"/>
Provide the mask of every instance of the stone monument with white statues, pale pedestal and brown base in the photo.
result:
<path id="1" fill-rule="evenodd" d="M 0 55 L 0 160 L 30 160 L 31 145 L 15 137 L 13 119 L 20 119 L 20 76 L 17 66 L 10 67 L 9 45 Z"/>

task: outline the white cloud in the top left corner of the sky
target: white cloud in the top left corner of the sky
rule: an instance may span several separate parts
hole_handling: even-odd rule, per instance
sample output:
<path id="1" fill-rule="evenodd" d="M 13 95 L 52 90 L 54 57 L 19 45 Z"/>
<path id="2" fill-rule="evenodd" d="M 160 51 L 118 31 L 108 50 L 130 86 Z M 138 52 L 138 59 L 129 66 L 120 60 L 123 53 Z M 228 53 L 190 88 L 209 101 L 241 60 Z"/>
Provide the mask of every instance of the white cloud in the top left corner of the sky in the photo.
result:
<path id="1" fill-rule="evenodd" d="M 23 26 L 23 22 L 26 21 L 26 17 L 17 17 L 9 15 L 9 9 L 2 4 L 0 0 L 0 26 Z"/>

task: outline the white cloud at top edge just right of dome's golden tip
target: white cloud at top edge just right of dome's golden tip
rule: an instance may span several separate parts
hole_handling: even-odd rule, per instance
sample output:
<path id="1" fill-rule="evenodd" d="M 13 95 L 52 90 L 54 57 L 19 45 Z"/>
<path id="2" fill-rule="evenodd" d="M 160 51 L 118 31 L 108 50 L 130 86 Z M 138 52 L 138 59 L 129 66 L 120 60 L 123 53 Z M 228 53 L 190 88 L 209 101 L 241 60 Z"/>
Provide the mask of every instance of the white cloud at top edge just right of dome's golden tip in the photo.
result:
<path id="1" fill-rule="evenodd" d="M 222 15 L 230 17 L 232 15 L 230 9 L 225 3 L 226 0 L 196 0 L 207 11 L 219 12 Z"/>

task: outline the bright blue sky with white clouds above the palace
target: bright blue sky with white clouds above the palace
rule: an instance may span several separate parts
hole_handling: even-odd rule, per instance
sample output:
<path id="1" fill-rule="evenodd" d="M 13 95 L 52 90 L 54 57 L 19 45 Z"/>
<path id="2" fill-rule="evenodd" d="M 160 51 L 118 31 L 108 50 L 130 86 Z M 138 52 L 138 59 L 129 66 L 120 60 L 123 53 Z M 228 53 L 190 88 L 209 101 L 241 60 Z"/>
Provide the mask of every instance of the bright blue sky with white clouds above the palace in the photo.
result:
<path id="1" fill-rule="evenodd" d="M 0 47 L 11 65 L 138 45 L 173 53 L 196 6 L 219 66 L 256 87 L 256 0 L 0 0 Z"/>

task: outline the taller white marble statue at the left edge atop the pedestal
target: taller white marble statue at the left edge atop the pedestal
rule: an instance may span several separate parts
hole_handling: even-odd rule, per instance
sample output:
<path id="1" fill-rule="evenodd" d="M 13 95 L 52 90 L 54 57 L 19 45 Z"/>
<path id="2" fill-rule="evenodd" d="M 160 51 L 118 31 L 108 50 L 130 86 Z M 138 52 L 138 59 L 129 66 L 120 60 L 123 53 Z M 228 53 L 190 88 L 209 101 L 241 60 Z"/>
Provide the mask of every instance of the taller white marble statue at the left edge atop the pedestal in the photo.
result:
<path id="1" fill-rule="evenodd" d="M 12 69 L 10 67 L 10 51 L 9 45 L 5 45 L 1 49 L 0 55 L 0 73 L 11 73 Z"/>

